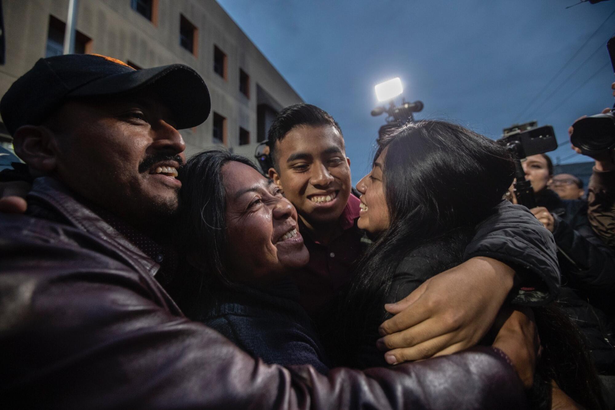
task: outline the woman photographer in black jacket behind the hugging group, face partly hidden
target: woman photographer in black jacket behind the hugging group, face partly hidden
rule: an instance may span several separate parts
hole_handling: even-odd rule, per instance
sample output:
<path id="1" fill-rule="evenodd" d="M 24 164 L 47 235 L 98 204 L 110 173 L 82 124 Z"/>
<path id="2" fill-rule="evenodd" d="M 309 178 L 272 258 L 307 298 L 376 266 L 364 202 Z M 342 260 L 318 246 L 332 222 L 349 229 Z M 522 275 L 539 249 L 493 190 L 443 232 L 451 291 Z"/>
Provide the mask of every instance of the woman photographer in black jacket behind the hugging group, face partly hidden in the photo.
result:
<path id="1" fill-rule="evenodd" d="M 523 162 L 537 207 L 530 209 L 555 238 L 561 270 L 560 306 L 587 337 L 600 379 L 615 396 L 615 253 L 598 238 L 587 219 L 587 202 L 563 200 L 547 186 L 553 164 L 545 154 Z M 611 399 L 612 400 L 612 399 Z"/>

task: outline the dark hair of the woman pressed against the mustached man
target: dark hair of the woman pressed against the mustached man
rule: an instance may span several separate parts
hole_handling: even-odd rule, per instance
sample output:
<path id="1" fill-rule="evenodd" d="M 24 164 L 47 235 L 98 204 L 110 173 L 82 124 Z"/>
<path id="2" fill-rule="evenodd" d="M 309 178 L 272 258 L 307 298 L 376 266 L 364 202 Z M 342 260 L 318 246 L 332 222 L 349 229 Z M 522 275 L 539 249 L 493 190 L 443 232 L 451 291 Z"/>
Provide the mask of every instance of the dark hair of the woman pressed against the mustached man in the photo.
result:
<path id="1" fill-rule="evenodd" d="M 181 284 L 173 287 L 182 310 L 211 303 L 220 286 L 232 286 L 224 268 L 226 259 L 226 191 L 222 167 L 231 162 L 255 169 L 249 159 L 224 149 L 203 151 L 181 167 L 180 209 L 175 229 L 175 246 L 182 267 Z"/>

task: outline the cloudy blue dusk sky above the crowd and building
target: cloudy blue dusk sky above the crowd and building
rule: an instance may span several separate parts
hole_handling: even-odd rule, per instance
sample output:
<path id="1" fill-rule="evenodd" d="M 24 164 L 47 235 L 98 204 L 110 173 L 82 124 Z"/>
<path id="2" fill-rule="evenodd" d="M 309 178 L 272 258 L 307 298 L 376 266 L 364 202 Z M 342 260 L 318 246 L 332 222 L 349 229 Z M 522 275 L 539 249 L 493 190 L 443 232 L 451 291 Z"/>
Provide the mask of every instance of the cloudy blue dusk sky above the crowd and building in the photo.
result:
<path id="1" fill-rule="evenodd" d="M 570 9 L 577 0 L 218 2 L 305 102 L 338 121 L 354 183 L 370 169 L 384 124 L 370 116 L 374 86 L 387 79 L 399 76 L 403 97 L 423 101 L 416 119 L 494 139 L 515 122 L 551 124 L 555 163 L 590 161 L 566 130 L 613 107 L 613 0 Z"/>

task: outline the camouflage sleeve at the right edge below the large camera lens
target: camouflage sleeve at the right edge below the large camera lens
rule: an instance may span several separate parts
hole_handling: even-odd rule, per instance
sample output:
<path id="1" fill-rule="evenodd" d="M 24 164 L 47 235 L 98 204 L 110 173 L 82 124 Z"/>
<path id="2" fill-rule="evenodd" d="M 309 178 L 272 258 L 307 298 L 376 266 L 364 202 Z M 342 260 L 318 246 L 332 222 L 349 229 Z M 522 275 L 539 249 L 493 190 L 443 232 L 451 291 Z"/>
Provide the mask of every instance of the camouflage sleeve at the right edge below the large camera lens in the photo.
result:
<path id="1" fill-rule="evenodd" d="M 615 249 L 615 171 L 593 170 L 587 205 L 587 219 L 593 230 Z"/>

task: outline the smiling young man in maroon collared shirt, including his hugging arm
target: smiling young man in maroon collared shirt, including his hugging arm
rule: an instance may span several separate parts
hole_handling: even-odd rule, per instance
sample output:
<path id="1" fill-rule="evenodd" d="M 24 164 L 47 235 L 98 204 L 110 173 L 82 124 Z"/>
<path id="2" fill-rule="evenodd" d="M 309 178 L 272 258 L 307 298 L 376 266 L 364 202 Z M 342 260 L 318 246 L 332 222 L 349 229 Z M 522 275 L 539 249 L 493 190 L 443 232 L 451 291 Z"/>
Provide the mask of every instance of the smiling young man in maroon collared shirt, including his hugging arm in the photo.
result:
<path id="1" fill-rule="evenodd" d="M 314 105 L 292 105 L 271 125 L 269 147 L 274 164 L 269 177 L 296 207 L 310 252 L 308 266 L 295 273 L 301 302 L 312 316 L 326 315 L 327 305 L 352 278 L 352 263 L 362 251 L 363 232 L 356 224 L 360 201 L 351 194 L 341 129 Z M 509 294 L 513 303 L 530 305 L 554 297 L 558 273 L 552 238 L 525 209 L 503 207 L 478 227 L 466 262 L 386 306 L 395 316 L 380 331 L 395 363 L 476 344 Z M 527 236 L 527 228 L 535 235 Z M 516 248 L 512 252 L 510 244 Z M 463 296 L 468 294 L 473 297 Z"/>

